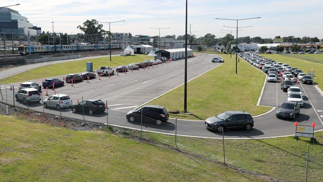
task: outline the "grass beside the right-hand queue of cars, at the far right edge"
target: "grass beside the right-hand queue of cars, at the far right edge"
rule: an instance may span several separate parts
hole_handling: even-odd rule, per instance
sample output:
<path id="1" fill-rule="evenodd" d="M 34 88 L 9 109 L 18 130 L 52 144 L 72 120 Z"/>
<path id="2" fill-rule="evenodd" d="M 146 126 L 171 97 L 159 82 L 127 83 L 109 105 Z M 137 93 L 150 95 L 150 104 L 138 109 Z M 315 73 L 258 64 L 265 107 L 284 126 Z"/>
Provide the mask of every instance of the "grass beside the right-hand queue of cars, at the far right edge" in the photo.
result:
<path id="1" fill-rule="evenodd" d="M 308 74 L 308 72 L 311 71 L 313 68 L 315 71 L 315 77 L 316 77 L 314 79 L 314 82 L 321 88 L 321 90 L 323 90 L 323 64 L 297 59 L 297 58 L 292 58 L 288 56 L 283 56 L 279 54 L 271 54 L 271 55 L 262 54 L 261 56 L 278 62 L 286 63 L 292 67 L 301 69 L 306 74 Z"/>

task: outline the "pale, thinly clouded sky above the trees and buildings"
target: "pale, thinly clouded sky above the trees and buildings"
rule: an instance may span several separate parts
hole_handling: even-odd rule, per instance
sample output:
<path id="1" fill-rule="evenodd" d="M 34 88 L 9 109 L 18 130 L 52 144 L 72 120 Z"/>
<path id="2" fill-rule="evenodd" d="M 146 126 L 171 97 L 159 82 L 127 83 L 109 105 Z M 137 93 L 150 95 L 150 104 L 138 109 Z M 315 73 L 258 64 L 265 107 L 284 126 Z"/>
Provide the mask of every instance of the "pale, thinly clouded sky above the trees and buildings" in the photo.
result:
<path id="1" fill-rule="evenodd" d="M 19 11 L 42 31 L 76 34 L 87 19 L 119 21 L 111 24 L 111 32 L 130 32 L 132 35 L 185 34 L 185 0 L 1 0 L 0 6 L 20 3 L 11 8 Z M 259 19 L 239 21 L 239 37 L 277 35 L 318 37 L 323 39 L 323 0 L 188 0 L 188 33 L 197 37 L 206 33 L 223 37 L 222 30 L 235 30 L 223 26 L 237 26 L 236 21 L 215 18 Z M 108 24 L 102 23 L 108 30 Z"/>

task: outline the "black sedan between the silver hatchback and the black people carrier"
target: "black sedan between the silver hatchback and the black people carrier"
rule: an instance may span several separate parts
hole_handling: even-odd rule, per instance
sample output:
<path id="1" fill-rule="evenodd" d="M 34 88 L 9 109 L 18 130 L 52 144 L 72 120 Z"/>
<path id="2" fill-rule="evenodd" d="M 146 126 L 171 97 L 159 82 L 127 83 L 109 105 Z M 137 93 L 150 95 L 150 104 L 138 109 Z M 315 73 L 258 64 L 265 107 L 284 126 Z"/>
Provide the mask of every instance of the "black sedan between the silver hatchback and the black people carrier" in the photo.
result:
<path id="1" fill-rule="evenodd" d="M 73 104 L 72 105 L 72 112 L 84 112 L 89 113 L 90 115 L 93 115 L 94 113 L 100 113 L 104 112 L 105 110 L 105 104 L 102 100 L 98 99 L 87 99 L 83 100 L 79 104 Z"/>

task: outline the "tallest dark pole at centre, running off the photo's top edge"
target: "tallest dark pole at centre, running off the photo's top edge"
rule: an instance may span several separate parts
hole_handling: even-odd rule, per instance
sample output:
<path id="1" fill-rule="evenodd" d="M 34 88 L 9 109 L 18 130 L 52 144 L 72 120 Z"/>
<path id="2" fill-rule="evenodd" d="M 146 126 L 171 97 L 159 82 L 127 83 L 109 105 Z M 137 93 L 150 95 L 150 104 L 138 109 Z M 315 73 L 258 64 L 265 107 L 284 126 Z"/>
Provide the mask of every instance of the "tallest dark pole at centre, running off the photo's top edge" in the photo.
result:
<path id="1" fill-rule="evenodd" d="M 184 113 L 187 112 L 187 0 L 185 12 L 185 68 L 184 68 Z"/>

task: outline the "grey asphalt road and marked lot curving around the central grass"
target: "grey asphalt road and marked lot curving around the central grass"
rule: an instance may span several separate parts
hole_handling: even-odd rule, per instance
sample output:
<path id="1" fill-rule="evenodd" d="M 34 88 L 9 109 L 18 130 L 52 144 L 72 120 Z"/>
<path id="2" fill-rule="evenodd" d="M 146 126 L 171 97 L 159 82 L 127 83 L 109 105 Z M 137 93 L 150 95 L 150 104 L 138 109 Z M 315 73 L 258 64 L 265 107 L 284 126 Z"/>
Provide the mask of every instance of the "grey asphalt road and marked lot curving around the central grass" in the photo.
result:
<path id="1" fill-rule="evenodd" d="M 212 55 L 205 54 L 199 57 L 188 59 L 188 80 L 193 79 L 200 74 L 203 74 L 221 64 L 211 63 L 210 59 Z M 226 63 L 224 63 L 226 64 Z M 71 87 L 70 84 L 66 84 L 65 87 L 56 88 L 56 93 L 69 94 L 73 101 L 77 99 L 81 101 L 81 98 L 98 98 L 101 100 L 107 100 L 109 105 L 109 124 L 115 126 L 122 126 L 134 129 L 140 129 L 140 122 L 130 123 L 126 120 L 125 114 L 128 110 L 135 108 L 149 100 L 173 89 L 181 84 L 184 80 L 184 61 L 172 61 L 169 64 L 155 66 L 149 69 L 140 69 L 140 71 L 128 72 L 127 74 L 120 73 L 119 76 L 101 77 L 101 80 L 94 79 L 89 83 L 83 81 L 81 83 L 74 84 Z M 250 65 L 251 66 L 251 65 Z M 57 78 L 63 79 L 63 76 Z M 37 83 L 41 83 L 42 79 L 35 80 Z M 16 90 L 19 83 L 14 84 Z M 296 120 L 301 124 L 311 125 L 313 121 L 316 121 L 316 130 L 323 129 L 323 124 L 320 122 L 320 117 L 323 112 L 323 96 L 310 85 L 300 85 L 305 95 L 305 105 L 301 109 L 301 114 Z M 52 94 L 50 91 L 49 94 Z M 44 96 L 44 99 L 47 96 Z M 12 92 L 7 89 L 1 89 L 2 102 L 7 100 L 12 104 Z M 279 83 L 266 83 L 262 97 L 260 99 L 260 105 L 274 106 L 280 105 L 285 101 L 286 92 L 280 90 Z M 21 103 L 16 105 L 20 107 L 26 107 Z M 29 109 L 39 112 L 43 111 L 42 104 L 29 104 Z M 316 110 L 317 109 L 317 110 Z M 45 109 L 45 112 L 60 115 L 60 112 L 56 109 Z M 226 138 L 229 139 L 251 139 L 251 138 L 268 138 L 278 137 L 285 135 L 295 134 L 294 120 L 281 120 L 275 117 L 276 109 L 273 111 L 255 117 L 254 127 L 250 131 L 244 130 L 232 130 L 225 132 Z M 213 113 L 218 114 L 218 113 Z M 210 114 L 212 115 L 212 113 Z M 81 114 L 72 113 L 71 109 L 62 109 L 63 117 L 70 117 L 75 119 L 83 119 Z M 97 123 L 106 123 L 106 113 L 90 116 L 84 116 L 85 120 Z M 169 119 L 168 123 L 163 123 L 161 126 L 157 126 L 155 123 L 143 123 L 143 129 L 147 131 L 154 131 L 165 134 L 175 133 L 175 120 Z M 221 138 L 222 134 L 218 132 L 211 132 L 206 130 L 203 121 L 187 121 L 177 120 L 177 134 L 181 136 L 192 137 L 210 137 Z"/>

